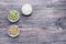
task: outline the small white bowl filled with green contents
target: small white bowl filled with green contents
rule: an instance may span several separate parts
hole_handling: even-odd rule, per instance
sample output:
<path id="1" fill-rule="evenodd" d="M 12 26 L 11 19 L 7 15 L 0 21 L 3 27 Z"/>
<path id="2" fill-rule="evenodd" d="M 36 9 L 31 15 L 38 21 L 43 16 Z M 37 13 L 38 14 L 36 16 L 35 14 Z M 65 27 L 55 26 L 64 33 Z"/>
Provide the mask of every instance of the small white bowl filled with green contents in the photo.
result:
<path id="1" fill-rule="evenodd" d="M 20 19 L 20 14 L 16 10 L 11 10 L 8 14 L 8 19 L 10 22 L 16 22 Z"/>

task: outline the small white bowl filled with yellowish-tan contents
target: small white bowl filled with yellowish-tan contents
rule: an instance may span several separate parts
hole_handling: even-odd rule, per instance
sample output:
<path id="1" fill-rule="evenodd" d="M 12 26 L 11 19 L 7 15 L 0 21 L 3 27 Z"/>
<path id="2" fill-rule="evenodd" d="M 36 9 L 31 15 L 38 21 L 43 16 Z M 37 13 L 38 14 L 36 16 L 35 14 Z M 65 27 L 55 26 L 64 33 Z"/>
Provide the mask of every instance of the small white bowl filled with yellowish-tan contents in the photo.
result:
<path id="1" fill-rule="evenodd" d="M 19 30 L 18 25 L 10 25 L 9 26 L 8 34 L 10 36 L 15 37 L 19 35 L 19 33 L 20 33 L 20 30 Z"/>

